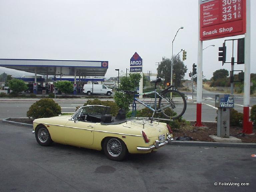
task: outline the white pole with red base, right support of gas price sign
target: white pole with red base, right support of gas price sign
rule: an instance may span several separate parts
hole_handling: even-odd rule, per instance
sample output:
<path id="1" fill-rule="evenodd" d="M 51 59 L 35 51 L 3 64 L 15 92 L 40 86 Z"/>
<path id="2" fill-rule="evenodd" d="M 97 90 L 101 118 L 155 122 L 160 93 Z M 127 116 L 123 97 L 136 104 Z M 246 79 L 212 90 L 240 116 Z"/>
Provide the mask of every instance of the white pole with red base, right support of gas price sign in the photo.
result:
<path id="1" fill-rule="evenodd" d="M 249 107 L 250 107 L 250 51 L 251 51 L 251 0 L 246 1 L 246 33 L 244 38 L 245 45 L 245 61 L 244 61 L 244 117 L 243 117 L 243 133 L 252 133 L 252 122 L 249 121 Z"/>

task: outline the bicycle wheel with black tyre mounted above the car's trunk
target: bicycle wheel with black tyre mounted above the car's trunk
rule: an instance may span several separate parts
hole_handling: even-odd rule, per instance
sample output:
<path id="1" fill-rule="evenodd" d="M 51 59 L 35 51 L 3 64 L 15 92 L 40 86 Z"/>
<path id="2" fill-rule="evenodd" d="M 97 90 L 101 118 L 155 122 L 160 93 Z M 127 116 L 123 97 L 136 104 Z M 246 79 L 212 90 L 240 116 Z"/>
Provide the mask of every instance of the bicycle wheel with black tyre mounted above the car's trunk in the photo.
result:
<path id="1" fill-rule="evenodd" d="M 165 118 L 178 119 L 185 113 L 187 102 L 184 94 L 177 90 L 167 90 L 161 96 L 158 107 L 162 109 Z"/>

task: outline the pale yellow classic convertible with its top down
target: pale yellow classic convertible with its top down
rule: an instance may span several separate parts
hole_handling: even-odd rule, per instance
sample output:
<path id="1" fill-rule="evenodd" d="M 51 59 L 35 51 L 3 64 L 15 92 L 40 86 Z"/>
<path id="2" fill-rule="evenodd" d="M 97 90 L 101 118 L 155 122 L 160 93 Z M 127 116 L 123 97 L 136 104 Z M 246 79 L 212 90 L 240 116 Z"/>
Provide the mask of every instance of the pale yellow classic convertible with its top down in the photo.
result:
<path id="1" fill-rule="evenodd" d="M 110 107 L 87 105 L 72 116 L 35 119 L 33 133 L 40 145 L 52 142 L 104 150 L 121 161 L 129 153 L 149 153 L 173 140 L 169 125 L 150 119 L 125 119 L 120 109 L 115 118 Z"/>

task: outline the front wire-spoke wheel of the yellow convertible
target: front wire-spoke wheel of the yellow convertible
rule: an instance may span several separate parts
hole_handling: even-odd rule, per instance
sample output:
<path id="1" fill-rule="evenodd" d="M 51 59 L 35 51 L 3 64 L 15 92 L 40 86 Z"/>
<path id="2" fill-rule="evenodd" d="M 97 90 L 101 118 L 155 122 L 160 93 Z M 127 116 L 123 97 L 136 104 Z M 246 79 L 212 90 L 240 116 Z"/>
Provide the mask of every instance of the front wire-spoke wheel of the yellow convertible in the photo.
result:
<path id="1" fill-rule="evenodd" d="M 35 131 L 36 141 L 39 145 L 48 146 L 52 144 L 52 138 L 44 125 L 39 125 Z"/>

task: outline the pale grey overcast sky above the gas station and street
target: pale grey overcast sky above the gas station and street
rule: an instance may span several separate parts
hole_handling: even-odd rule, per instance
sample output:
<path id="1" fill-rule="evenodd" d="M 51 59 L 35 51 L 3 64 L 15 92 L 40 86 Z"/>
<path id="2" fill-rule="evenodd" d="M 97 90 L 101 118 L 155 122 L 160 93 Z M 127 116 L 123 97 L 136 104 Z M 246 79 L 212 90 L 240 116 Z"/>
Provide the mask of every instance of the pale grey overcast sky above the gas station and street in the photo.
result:
<path id="1" fill-rule="evenodd" d="M 251 73 L 256 73 L 253 10 L 256 0 L 251 0 Z M 137 52 L 143 72 L 156 73 L 155 62 L 171 57 L 181 26 L 173 54 L 187 51 L 188 78 L 197 63 L 198 0 L 0 0 L 0 58 L 107 60 L 106 77 L 111 77 L 117 76 L 115 69 L 129 68 Z M 203 48 L 215 45 L 203 51 L 207 79 L 218 69 L 231 70 L 230 64 L 218 61 L 223 42 L 203 42 Z M 244 65 L 235 65 L 235 70 L 244 70 Z"/>

